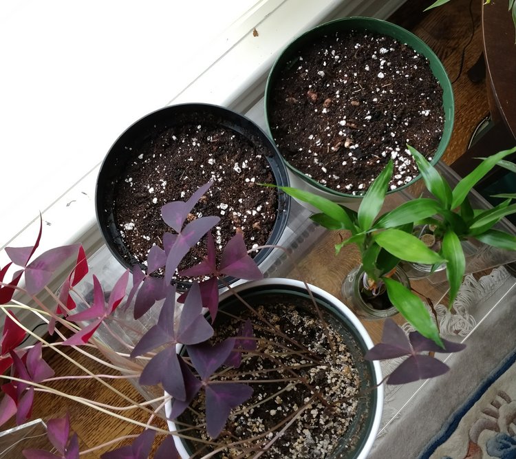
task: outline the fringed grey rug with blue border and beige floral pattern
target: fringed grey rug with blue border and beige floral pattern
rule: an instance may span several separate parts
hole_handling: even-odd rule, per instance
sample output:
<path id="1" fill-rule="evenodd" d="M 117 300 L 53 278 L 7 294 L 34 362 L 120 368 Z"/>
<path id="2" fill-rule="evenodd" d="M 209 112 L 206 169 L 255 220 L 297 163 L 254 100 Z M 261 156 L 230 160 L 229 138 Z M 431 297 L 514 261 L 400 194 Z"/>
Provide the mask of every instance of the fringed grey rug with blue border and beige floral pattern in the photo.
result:
<path id="1" fill-rule="evenodd" d="M 440 320 L 450 333 L 469 333 L 466 349 L 447 360 L 451 371 L 415 395 L 417 387 L 387 386 L 394 390 L 386 391 L 385 423 L 368 459 L 516 459 L 516 281 L 493 271 L 465 282 L 464 298 L 473 301 Z"/>

